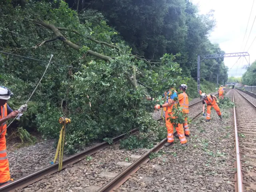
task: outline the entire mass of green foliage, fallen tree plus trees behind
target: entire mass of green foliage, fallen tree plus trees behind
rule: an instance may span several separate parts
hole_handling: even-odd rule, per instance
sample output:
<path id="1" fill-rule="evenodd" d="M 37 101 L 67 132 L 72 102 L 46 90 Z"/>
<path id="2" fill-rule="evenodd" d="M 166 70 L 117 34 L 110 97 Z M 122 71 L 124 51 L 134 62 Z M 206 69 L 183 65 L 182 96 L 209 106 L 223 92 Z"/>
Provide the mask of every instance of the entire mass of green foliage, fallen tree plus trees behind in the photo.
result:
<path id="1" fill-rule="evenodd" d="M 157 4 L 152 1 L 147 6 L 144 1 L 114 2 L 110 6 L 113 1 L 104 1 L 102 11 L 108 20 L 96 10 L 84 9 L 78 14 L 63 1 L 1 2 L 0 27 L 23 36 L 0 29 L 0 50 L 45 61 L 54 55 L 28 103 L 29 110 L 14 126 L 37 129 L 47 138 L 58 138 L 58 118 L 66 116 L 71 124 L 67 126 L 65 147 L 74 152 L 82 144 L 132 128 L 145 132 L 157 129 L 150 116 L 152 103 L 145 96 L 162 95 L 172 83 L 186 83 L 188 95 L 198 96 L 196 81 L 189 78 L 190 72 L 195 71 L 196 53 L 222 52 L 207 39 L 213 21 L 206 23 L 208 17 L 198 16 L 196 7 L 184 0 Z M 112 15 L 111 11 L 106 12 L 106 4 Z M 89 6 L 92 8 L 92 4 Z M 130 18 L 131 13 L 137 17 Z M 182 38 L 171 40 L 173 35 Z M 152 63 L 132 53 L 159 61 Z M 175 62 L 178 58 L 188 63 Z M 216 70 L 223 74 L 220 80 L 226 78 L 222 60 L 201 64 L 201 76 L 210 76 L 207 80 L 215 81 Z M 46 65 L 47 62 L 0 54 L 0 84 L 14 92 L 8 101 L 13 109 L 26 102 Z M 214 91 L 213 84 L 209 90 L 208 82 L 202 82 L 203 91 Z"/>

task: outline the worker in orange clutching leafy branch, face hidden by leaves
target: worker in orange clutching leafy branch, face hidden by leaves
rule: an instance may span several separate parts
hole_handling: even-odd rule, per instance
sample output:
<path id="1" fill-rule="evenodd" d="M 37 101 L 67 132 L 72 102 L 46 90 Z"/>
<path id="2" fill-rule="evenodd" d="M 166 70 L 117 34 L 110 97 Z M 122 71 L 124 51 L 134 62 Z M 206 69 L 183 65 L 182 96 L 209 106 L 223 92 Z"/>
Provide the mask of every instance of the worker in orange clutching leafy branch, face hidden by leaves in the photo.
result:
<path id="1" fill-rule="evenodd" d="M 175 104 L 177 104 L 177 102 L 174 101 L 174 98 L 178 97 L 178 94 L 177 94 L 177 91 L 174 89 L 174 86 L 172 86 L 168 90 L 168 92 L 164 93 L 164 96 L 166 98 L 166 103 L 163 105 L 154 106 L 155 109 L 164 108 L 164 111 L 165 111 L 165 124 L 166 124 L 166 128 L 167 128 L 167 142 L 166 142 L 166 144 L 164 144 L 165 147 L 171 146 L 174 143 L 173 124 L 170 122 L 170 120 L 168 120 L 169 117 L 174 118 L 172 116 L 172 107 Z M 147 99 L 154 100 L 154 98 L 150 98 L 150 97 L 148 97 Z M 182 145 L 186 145 L 187 140 L 186 140 L 186 137 L 184 134 L 183 126 L 178 126 L 176 128 L 176 130 L 178 132 L 180 143 Z"/>

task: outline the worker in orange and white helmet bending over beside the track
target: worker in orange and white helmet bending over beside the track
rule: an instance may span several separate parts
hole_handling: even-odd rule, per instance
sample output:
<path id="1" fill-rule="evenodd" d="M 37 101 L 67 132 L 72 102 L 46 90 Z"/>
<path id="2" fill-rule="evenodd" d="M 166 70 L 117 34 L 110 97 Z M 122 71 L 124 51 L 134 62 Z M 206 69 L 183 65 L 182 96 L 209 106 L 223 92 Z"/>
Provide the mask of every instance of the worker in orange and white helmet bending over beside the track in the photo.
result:
<path id="1" fill-rule="evenodd" d="M 211 94 L 206 95 L 205 93 L 202 93 L 201 98 L 203 98 L 203 114 L 205 110 L 205 104 L 207 104 L 206 122 L 210 121 L 212 107 L 216 110 L 218 116 L 222 119 L 220 108 L 217 104 L 219 101 L 216 96 Z"/>

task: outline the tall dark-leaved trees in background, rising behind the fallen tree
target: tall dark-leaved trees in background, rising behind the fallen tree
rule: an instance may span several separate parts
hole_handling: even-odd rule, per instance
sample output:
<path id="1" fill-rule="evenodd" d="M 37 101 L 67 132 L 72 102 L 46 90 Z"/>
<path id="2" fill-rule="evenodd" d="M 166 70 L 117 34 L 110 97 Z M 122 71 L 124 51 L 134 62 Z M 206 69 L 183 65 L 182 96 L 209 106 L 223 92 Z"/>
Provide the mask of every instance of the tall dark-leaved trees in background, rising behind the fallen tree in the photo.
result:
<path id="1" fill-rule="evenodd" d="M 217 44 L 208 40 L 215 20 L 213 11 L 199 15 L 189 0 L 67 0 L 69 6 L 91 8 L 103 12 L 110 26 L 116 28 L 133 54 L 159 60 L 163 54 L 181 53 L 176 61 L 187 76 L 196 77 L 197 55 L 223 53 Z M 78 2 L 78 6 L 77 6 Z M 85 4 L 85 6 L 84 6 Z M 158 61 L 155 61 L 158 62 Z M 216 83 L 227 80 L 228 69 L 223 58 L 201 62 L 201 76 Z"/>

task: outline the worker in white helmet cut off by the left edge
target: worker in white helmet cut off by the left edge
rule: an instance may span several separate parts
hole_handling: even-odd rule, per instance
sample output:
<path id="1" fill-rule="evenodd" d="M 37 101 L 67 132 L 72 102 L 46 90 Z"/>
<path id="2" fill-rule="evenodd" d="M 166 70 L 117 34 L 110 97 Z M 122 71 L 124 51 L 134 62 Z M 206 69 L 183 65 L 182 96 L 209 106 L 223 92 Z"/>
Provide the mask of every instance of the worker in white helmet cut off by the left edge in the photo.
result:
<path id="1" fill-rule="evenodd" d="M 11 182 L 9 162 L 6 154 L 6 121 L 18 115 L 18 111 L 13 111 L 7 104 L 12 96 L 12 92 L 6 87 L 0 86 L 0 186 Z M 5 130 L 4 130 L 5 129 Z"/>

